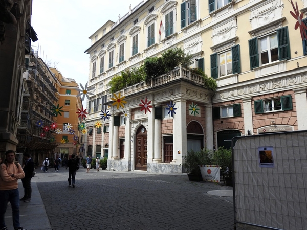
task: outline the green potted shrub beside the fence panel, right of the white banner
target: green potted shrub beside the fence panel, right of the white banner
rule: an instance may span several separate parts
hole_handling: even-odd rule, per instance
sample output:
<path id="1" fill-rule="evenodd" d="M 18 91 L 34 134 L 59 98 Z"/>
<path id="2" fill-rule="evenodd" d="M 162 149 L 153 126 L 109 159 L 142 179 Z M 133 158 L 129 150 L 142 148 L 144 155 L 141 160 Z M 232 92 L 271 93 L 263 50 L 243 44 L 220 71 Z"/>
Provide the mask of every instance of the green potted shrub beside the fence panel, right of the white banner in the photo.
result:
<path id="1" fill-rule="evenodd" d="M 214 160 L 221 167 L 223 180 L 227 186 L 232 186 L 232 152 L 231 149 L 218 148 L 214 153 Z"/>

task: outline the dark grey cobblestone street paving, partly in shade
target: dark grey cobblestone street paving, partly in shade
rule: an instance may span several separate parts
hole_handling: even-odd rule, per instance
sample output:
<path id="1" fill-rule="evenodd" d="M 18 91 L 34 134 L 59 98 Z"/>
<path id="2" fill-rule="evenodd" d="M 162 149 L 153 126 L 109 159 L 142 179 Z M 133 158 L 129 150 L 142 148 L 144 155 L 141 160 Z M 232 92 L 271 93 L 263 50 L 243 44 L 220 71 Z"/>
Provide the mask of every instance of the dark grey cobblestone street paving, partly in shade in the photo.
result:
<path id="1" fill-rule="evenodd" d="M 36 170 L 38 171 L 38 170 Z M 232 197 L 207 194 L 231 187 L 191 182 L 186 174 L 39 170 L 37 182 L 52 229 L 233 229 Z"/>

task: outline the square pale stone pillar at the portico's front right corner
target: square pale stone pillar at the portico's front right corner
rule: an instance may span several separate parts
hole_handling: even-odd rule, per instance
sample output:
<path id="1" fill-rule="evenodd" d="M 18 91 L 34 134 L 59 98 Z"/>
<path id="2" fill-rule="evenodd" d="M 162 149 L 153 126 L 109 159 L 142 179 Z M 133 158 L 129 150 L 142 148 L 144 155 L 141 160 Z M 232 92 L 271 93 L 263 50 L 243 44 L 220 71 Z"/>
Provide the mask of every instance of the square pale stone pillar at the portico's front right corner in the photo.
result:
<path id="1" fill-rule="evenodd" d="M 173 120 L 173 162 L 182 163 L 183 154 L 187 153 L 187 114 L 186 100 L 179 99 L 176 101 Z"/>

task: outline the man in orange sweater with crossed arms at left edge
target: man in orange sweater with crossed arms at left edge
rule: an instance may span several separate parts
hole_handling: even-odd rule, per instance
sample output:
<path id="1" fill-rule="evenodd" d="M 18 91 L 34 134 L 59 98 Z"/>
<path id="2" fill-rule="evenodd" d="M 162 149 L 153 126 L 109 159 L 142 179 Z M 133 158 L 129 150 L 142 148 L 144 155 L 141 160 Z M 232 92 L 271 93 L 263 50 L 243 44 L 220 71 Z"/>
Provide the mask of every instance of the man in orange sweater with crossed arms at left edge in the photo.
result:
<path id="1" fill-rule="evenodd" d="M 5 162 L 0 165 L 0 229 L 7 229 L 5 212 L 8 201 L 12 206 L 13 226 L 15 230 L 25 230 L 19 223 L 19 191 L 18 179 L 25 177 L 24 170 L 19 163 L 15 163 L 15 151 L 5 152 Z"/>

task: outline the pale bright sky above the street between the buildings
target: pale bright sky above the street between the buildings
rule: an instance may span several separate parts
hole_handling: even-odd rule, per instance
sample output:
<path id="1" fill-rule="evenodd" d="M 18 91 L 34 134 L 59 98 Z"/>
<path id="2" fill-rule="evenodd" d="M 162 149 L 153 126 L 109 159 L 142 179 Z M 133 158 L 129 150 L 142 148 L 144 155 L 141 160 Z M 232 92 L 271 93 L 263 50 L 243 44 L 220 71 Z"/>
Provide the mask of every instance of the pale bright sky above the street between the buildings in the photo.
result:
<path id="1" fill-rule="evenodd" d="M 128 13 L 130 4 L 134 8 L 141 2 L 33 0 L 31 24 L 38 41 L 31 46 L 50 67 L 56 67 L 65 78 L 73 78 L 84 87 L 89 79 L 90 56 L 84 53 L 91 46 L 89 37 L 108 20 L 116 22 L 119 14 Z"/>

